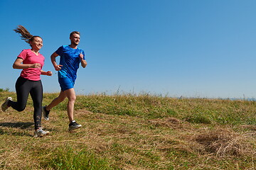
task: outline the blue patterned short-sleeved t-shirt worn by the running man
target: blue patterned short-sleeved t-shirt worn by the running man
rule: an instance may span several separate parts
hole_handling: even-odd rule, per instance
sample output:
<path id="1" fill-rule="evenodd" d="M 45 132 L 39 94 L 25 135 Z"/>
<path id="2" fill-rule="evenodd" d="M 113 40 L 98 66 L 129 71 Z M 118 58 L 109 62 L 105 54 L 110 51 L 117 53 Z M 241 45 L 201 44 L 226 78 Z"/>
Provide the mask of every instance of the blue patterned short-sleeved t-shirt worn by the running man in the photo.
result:
<path id="1" fill-rule="evenodd" d="M 82 53 L 83 59 L 85 60 L 84 50 L 80 48 L 74 49 L 69 45 L 63 45 L 59 47 L 55 52 L 60 56 L 60 65 L 63 65 L 60 71 L 58 71 L 58 77 L 68 77 L 73 82 L 75 82 L 79 64 L 81 62 L 79 57 L 80 53 Z"/>

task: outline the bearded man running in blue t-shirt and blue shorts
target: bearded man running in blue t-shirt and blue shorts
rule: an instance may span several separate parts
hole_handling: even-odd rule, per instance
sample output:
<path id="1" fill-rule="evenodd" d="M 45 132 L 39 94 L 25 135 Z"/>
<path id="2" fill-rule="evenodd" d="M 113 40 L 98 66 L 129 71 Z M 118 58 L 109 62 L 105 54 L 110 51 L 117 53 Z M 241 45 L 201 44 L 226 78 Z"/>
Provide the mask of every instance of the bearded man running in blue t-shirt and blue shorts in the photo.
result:
<path id="1" fill-rule="evenodd" d="M 73 31 L 70 33 L 70 45 L 63 45 L 58 48 L 53 55 L 50 56 L 50 60 L 53 63 L 53 67 L 58 71 L 58 82 L 60 84 L 60 94 L 55 98 L 48 106 L 43 107 L 43 117 L 45 120 L 49 120 L 50 109 L 57 106 L 60 102 L 68 98 L 68 118 L 69 128 L 68 130 L 75 130 L 81 128 L 74 120 L 74 105 L 75 105 L 75 90 L 74 84 L 77 78 L 77 71 L 79 64 L 85 68 L 87 62 L 85 61 L 84 50 L 78 48 L 80 42 L 80 33 Z M 60 56 L 60 64 L 56 63 L 55 57 Z"/>

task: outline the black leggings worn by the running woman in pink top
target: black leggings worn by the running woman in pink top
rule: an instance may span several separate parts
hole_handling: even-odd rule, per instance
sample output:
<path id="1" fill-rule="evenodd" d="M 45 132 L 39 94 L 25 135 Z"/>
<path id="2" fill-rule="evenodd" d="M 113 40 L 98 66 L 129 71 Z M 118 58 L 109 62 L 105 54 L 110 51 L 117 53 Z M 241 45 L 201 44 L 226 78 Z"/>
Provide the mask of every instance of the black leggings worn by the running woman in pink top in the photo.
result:
<path id="1" fill-rule="evenodd" d="M 17 102 L 9 101 L 9 106 L 14 108 L 16 111 L 23 111 L 26 108 L 28 94 L 31 94 L 34 107 L 33 120 L 35 122 L 35 129 L 37 130 L 38 128 L 41 128 L 43 101 L 43 86 L 41 80 L 31 81 L 24 79 L 23 77 L 18 77 L 15 88 Z"/>

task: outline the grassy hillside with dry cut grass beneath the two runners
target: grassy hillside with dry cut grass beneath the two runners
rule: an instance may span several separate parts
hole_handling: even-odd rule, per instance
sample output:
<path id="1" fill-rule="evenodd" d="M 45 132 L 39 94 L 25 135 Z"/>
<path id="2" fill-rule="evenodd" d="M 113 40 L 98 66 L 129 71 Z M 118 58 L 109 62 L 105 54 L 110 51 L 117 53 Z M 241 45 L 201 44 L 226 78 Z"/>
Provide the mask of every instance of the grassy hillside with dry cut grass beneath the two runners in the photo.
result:
<path id="1" fill-rule="evenodd" d="M 58 94 L 44 94 L 48 104 Z M 16 94 L 0 92 L 0 102 Z M 256 103 L 151 95 L 78 96 L 33 137 L 33 103 L 0 117 L 0 169 L 256 169 Z"/>

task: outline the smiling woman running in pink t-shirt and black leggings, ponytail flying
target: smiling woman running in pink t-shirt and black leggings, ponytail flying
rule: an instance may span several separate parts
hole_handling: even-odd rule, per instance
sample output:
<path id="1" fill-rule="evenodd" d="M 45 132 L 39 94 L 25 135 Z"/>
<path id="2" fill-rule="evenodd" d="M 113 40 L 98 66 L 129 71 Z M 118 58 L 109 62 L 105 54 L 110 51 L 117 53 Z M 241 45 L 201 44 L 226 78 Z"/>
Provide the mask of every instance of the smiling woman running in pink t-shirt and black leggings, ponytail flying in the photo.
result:
<path id="1" fill-rule="evenodd" d="M 23 111 L 26 108 L 28 94 L 31 94 L 34 107 L 34 136 L 43 137 L 49 132 L 41 128 L 43 86 L 40 76 L 41 74 L 52 75 L 52 72 L 42 70 L 45 57 L 39 53 L 39 50 L 43 47 L 43 39 L 40 36 L 31 35 L 23 26 L 18 26 L 14 31 L 21 34 L 21 40 L 25 40 L 31 49 L 22 50 L 13 64 L 14 69 L 22 69 L 15 85 L 17 101 L 12 101 L 11 97 L 6 98 L 6 101 L 1 105 L 1 110 L 6 111 L 11 106 L 16 111 Z"/>

